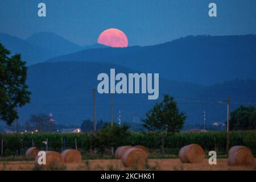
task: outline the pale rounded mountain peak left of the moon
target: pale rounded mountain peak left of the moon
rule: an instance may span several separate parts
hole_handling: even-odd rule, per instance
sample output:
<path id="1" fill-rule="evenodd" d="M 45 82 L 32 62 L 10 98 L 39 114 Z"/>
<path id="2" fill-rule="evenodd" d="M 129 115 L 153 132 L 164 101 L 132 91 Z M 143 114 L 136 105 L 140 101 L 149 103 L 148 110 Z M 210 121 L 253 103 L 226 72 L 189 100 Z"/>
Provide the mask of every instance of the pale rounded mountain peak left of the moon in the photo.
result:
<path id="1" fill-rule="evenodd" d="M 31 44 L 49 49 L 55 56 L 81 51 L 83 47 L 51 32 L 39 32 L 26 39 Z"/>

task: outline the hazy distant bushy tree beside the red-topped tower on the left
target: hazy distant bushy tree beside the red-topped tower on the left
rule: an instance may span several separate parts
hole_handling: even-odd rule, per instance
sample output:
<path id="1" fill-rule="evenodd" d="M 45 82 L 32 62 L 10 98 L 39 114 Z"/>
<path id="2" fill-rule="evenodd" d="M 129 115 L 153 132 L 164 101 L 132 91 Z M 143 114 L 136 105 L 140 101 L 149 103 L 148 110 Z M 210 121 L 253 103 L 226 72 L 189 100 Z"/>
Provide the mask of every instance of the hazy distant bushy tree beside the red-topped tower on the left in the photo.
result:
<path id="1" fill-rule="evenodd" d="M 38 130 L 39 132 L 47 132 L 53 131 L 55 126 L 51 126 L 49 123 L 49 117 L 47 114 L 31 114 L 28 122 L 32 123 L 34 130 Z"/>

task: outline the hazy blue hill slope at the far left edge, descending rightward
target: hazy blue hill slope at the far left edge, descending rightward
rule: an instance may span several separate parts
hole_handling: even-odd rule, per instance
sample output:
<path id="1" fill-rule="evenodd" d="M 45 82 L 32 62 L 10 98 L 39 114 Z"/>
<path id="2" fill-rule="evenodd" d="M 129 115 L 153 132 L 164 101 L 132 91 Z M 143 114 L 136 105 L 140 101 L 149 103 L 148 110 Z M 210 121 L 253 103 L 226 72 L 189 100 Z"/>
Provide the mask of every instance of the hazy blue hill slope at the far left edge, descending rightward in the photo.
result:
<path id="1" fill-rule="evenodd" d="M 22 60 L 26 61 L 27 65 L 39 63 L 55 56 L 49 49 L 36 46 L 28 43 L 26 40 L 8 34 L 0 33 L 0 42 L 9 49 L 12 54 L 21 53 Z"/>

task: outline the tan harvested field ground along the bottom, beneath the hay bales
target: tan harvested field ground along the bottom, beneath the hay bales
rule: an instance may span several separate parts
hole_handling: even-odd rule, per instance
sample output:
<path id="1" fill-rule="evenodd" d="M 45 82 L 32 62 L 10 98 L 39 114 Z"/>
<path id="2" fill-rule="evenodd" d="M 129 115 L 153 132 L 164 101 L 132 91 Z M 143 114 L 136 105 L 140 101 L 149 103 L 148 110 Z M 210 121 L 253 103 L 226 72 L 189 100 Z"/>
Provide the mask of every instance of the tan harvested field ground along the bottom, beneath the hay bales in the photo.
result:
<path id="1" fill-rule="evenodd" d="M 123 167 L 122 161 L 86 160 L 81 164 L 66 164 L 67 170 L 129 170 Z M 0 162 L 0 170 L 32 170 L 34 162 Z M 149 159 L 145 170 L 256 170 L 254 166 L 228 166 L 227 159 L 217 159 L 217 165 L 209 165 L 205 159 L 201 164 L 183 164 L 179 159 Z"/>

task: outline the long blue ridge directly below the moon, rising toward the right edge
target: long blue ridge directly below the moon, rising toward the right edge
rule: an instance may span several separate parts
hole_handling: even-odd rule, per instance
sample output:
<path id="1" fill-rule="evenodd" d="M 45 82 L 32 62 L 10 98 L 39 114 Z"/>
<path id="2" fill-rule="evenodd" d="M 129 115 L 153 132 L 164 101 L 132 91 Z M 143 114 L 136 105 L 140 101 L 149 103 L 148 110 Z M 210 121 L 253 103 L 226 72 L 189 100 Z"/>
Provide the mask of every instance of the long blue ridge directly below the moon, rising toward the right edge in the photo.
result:
<path id="1" fill-rule="evenodd" d="M 187 36 L 145 47 L 86 49 L 49 61 L 99 61 L 170 80 L 214 84 L 256 79 L 256 36 Z"/>

